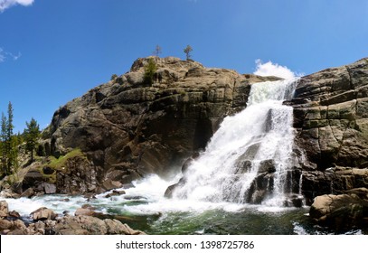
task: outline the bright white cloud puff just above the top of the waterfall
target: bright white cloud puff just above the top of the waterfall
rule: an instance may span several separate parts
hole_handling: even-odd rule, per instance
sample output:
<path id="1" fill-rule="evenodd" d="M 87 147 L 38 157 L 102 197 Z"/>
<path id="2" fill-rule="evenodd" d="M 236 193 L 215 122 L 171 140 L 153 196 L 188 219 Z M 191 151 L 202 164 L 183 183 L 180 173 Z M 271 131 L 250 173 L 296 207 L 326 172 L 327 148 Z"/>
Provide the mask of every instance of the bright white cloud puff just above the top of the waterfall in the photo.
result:
<path id="1" fill-rule="evenodd" d="M 286 66 L 280 66 L 278 63 L 273 63 L 272 61 L 263 63 L 259 59 L 256 60 L 256 70 L 253 74 L 259 76 L 276 76 L 283 79 L 293 79 L 303 75 L 289 70 Z"/>

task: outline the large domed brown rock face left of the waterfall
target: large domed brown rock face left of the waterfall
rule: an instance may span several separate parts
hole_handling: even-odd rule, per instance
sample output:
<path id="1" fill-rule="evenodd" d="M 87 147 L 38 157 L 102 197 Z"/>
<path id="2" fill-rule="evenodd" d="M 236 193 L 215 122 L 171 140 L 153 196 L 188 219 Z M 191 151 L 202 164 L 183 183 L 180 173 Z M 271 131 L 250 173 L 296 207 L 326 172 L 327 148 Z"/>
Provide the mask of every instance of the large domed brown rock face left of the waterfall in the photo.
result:
<path id="1" fill-rule="evenodd" d="M 68 174 L 58 172 L 57 192 L 103 192 L 180 168 L 223 117 L 246 107 L 250 82 L 258 80 L 194 61 L 153 60 L 153 84 L 144 80 L 147 59 L 138 59 L 126 74 L 55 112 L 44 149 L 62 155 L 78 147 L 88 157 L 70 164 Z"/>

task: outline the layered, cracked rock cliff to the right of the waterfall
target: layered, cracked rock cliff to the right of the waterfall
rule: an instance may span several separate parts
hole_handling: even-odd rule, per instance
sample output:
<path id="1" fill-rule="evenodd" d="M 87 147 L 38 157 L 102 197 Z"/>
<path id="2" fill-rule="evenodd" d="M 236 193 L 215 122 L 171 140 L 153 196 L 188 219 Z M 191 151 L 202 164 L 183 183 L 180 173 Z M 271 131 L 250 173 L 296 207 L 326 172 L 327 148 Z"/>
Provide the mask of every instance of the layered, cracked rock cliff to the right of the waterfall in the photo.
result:
<path id="1" fill-rule="evenodd" d="M 307 201 L 366 187 L 368 59 L 301 78 L 290 104 L 296 144 L 306 156 L 302 185 Z"/>

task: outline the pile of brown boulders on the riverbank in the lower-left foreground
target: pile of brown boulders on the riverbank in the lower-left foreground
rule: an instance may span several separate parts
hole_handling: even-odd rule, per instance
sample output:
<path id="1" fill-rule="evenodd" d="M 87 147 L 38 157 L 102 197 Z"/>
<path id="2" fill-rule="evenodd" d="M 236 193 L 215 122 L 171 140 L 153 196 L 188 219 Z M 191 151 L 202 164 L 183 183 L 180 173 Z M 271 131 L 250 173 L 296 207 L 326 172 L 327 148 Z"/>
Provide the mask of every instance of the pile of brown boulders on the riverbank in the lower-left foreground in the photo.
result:
<path id="1" fill-rule="evenodd" d="M 99 219 L 98 213 L 84 206 L 75 215 L 60 216 L 47 208 L 22 218 L 17 211 L 9 211 L 8 203 L 0 201 L 0 233 L 2 235 L 143 235 L 115 219 Z"/>

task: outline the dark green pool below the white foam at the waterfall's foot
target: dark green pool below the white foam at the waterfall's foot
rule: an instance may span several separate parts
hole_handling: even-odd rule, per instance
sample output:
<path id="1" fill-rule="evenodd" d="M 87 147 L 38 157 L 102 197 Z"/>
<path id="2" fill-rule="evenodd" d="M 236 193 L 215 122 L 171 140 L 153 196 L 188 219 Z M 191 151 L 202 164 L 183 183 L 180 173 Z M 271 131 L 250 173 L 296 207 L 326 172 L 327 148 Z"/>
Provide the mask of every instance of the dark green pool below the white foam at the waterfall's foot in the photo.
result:
<path id="1" fill-rule="evenodd" d="M 314 233 L 309 230 L 307 209 L 276 213 L 248 208 L 239 212 L 222 210 L 203 213 L 169 213 L 149 222 L 147 233 L 152 234 L 216 234 L 216 235 L 290 235 Z M 303 225 L 300 225 L 303 224 Z"/>

